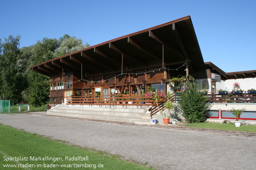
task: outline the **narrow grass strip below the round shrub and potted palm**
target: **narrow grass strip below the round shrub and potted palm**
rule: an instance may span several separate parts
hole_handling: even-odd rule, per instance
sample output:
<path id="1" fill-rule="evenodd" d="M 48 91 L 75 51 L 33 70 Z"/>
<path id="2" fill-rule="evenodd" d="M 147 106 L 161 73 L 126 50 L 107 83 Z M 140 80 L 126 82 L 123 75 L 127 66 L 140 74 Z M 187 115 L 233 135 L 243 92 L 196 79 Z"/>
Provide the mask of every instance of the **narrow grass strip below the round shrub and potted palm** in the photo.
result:
<path id="1" fill-rule="evenodd" d="M 208 128 L 208 129 L 221 129 L 221 130 L 237 130 L 244 132 L 256 132 L 256 126 L 241 125 L 236 127 L 234 124 L 220 124 L 220 123 L 189 123 L 182 126 L 195 127 L 195 128 Z"/>

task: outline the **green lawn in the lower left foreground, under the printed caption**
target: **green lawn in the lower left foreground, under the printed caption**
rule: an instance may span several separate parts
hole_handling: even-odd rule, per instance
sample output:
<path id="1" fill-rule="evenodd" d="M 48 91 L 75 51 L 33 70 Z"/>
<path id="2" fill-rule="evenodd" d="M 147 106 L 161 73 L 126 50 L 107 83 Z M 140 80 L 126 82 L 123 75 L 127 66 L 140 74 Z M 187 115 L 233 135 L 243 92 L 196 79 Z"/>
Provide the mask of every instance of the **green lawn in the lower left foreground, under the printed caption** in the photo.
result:
<path id="1" fill-rule="evenodd" d="M 96 142 L 96 141 L 95 141 Z M 141 166 L 138 164 L 133 164 L 131 162 L 126 162 L 124 160 L 102 155 L 105 152 L 92 152 L 86 150 L 84 148 L 74 147 L 67 144 L 59 143 L 54 140 L 49 140 L 45 137 L 38 136 L 36 134 L 30 134 L 24 131 L 16 130 L 8 126 L 4 126 L 0 124 L 0 169 L 8 169 L 8 170 L 24 170 L 24 169 L 31 169 L 31 170 L 41 170 L 41 169 L 61 169 L 61 170 L 94 170 L 94 169 L 102 169 L 102 170 L 147 170 L 151 169 L 145 166 Z M 6 156 L 6 157 L 4 157 Z M 14 161 L 7 161 L 6 158 L 10 157 L 28 157 L 28 160 L 19 160 L 18 163 Z M 30 160 L 30 156 L 33 157 L 45 157 L 49 156 L 51 158 L 61 158 L 62 160 Z M 88 156 L 88 160 L 65 160 L 66 156 L 68 158 L 77 158 L 77 156 L 81 156 L 86 158 Z M 37 166 L 41 164 L 42 167 L 30 167 L 30 168 L 4 168 L 4 165 L 12 164 L 18 166 L 18 164 L 29 165 L 33 164 Z M 44 164 L 48 164 L 53 166 L 53 164 L 58 164 L 59 168 L 43 168 Z M 60 168 L 62 165 L 70 165 L 71 166 L 78 166 L 78 164 L 82 165 L 90 165 L 90 168 Z M 99 168 L 98 165 L 103 165 L 103 167 Z M 82 166 L 81 165 L 81 166 Z M 96 168 L 94 168 L 94 165 Z"/>

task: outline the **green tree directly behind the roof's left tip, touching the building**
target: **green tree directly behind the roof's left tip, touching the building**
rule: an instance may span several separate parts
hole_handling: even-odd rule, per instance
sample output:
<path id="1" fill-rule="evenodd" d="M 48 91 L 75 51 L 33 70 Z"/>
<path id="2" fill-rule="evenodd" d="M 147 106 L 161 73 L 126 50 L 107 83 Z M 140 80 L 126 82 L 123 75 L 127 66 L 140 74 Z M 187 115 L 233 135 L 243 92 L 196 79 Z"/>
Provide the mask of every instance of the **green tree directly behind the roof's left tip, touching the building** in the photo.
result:
<path id="1" fill-rule="evenodd" d="M 54 58 L 54 50 L 58 47 L 56 38 L 43 38 L 30 48 L 23 48 L 23 56 L 29 57 L 28 66 L 25 71 L 28 88 L 22 92 L 23 100 L 35 106 L 47 104 L 49 101 L 49 77 L 33 72 L 29 69 L 30 66 L 51 60 Z"/>

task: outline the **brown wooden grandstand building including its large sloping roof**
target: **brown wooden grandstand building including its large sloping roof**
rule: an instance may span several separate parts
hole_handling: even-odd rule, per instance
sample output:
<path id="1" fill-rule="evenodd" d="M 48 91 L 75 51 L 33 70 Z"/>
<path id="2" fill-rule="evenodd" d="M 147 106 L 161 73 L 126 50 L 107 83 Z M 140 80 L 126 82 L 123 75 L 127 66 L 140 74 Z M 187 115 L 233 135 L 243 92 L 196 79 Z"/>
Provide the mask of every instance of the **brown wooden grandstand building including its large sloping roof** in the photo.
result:
<path id="1" fill-rule="evenodd" d="M 167 90 L 169 79 L 178 75 L 209 79 L 213 72 L 221 74 L 222 80 L 229 78 L 212 63 L 204 63 L 190 16 L 54 58 L 30 69 L 50 76 L 50 102 L 68 96 L 140 94 L 147 92 L 149 86 Z M 253 71 L 248 75 L 255 77 Z"/>

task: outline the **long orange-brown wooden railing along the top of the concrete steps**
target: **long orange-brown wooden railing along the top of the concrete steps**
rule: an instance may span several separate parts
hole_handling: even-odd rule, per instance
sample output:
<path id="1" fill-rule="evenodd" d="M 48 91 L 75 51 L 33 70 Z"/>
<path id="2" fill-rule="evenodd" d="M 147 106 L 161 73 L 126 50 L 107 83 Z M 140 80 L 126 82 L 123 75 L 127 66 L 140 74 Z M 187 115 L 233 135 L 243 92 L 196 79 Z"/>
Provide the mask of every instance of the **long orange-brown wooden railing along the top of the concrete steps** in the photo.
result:
<path id="1" fill-rule="evenodd" d="M 67 98 L 67 104 L 80 105 L 135 105 L 152 106 L 152 96 L 145 94 L 115 94 L 98 96 L 72 96 Z"/>

